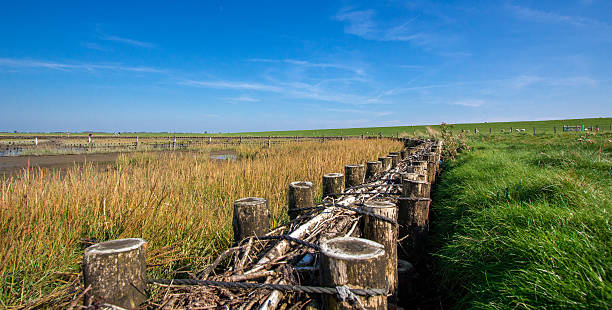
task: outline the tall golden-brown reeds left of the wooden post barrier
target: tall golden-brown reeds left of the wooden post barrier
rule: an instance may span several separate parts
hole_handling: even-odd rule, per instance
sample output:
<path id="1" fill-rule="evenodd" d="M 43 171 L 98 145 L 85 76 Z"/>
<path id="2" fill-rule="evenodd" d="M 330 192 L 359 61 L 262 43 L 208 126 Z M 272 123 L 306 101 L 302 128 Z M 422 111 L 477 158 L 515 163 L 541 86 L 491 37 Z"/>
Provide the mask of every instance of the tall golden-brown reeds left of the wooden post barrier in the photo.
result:
<path id="1" fill-rule="evenodd" d="M 122 155 L 110 169 L 23 171 L 0 184 L 0 305 L 47 303 L 78 286 L 83 239 L 141 237 L 150 276 L 203 268 L 232 242 L 234 200 L 269 200 L 272 225 L 286 218 L 286 190 L 363 163 L 401 144 L 391 140 L 241 147 L 236 161 L 207 153 Z"/>

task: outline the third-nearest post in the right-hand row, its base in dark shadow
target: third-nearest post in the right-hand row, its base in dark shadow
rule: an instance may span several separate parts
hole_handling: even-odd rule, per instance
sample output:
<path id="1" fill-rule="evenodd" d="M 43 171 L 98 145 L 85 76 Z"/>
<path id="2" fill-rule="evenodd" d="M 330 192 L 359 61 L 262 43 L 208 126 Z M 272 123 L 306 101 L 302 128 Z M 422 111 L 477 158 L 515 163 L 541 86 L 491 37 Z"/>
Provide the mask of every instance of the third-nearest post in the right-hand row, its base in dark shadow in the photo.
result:
<path id="1" fill-rule="evenodd" d="M 419 253 L 429 230 L 429 198 L 399 199 L 398 223 L 400 224 L 399 238 L 402 239 L 402 248 L 409 258 Z"/>

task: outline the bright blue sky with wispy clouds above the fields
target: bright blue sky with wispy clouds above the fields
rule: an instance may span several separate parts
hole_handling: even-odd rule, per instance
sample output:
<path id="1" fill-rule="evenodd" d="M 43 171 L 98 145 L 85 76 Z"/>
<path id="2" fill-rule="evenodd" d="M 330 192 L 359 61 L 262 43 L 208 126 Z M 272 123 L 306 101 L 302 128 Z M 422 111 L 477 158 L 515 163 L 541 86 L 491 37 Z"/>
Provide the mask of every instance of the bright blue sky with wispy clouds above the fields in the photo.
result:
<path id="1" fill-rule="evenodd" d="M 0 131 L 612 115 L 612 1 L 4 1 Z"/>

